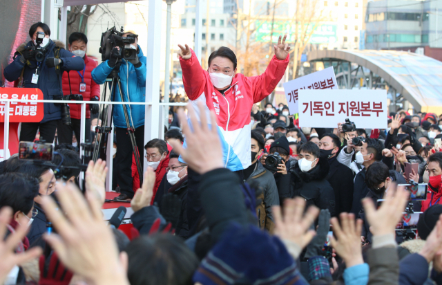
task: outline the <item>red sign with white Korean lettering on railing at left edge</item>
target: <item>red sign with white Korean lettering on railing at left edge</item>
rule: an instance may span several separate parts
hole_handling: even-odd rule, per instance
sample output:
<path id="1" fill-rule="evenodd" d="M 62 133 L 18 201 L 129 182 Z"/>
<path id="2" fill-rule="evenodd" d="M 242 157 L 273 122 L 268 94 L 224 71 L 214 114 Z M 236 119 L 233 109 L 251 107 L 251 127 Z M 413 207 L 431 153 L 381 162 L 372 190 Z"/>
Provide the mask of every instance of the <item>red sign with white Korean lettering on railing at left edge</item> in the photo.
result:
<path id="1" fill-rule="evenodd" d="M 1 99 L 43 100 L 37 88 L 0 88 L 0 122 L 5 122 L 5 105 Z M 44 116 L 44 103 L 10 102 L 10 122 L 40 122 Z"/>

